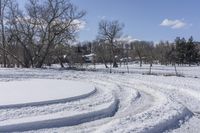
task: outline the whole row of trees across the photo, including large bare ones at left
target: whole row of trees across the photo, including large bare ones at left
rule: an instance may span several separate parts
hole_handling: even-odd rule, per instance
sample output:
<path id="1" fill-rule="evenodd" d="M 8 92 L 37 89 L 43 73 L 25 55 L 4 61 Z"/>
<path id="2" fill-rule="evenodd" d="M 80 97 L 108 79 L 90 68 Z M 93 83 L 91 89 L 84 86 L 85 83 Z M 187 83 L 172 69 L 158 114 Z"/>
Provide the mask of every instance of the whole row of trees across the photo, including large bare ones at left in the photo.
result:
<path id="1" fill-rule="evenodd" d="M 68 0 L 28 0 L 19 9 L 14 0 L 0 0 L 0 64 L 2 67 L 41 68 L 60 63 L 64 67 L 85 62 L 106 68 L 129 61 L 150 66 L 200 63 L 200 45 L 193 38 L 174 42 L 123 40 L 124 24 L 101 20 L 94 41 L 74 44 L 85 11 Z M 88 58 L 86 60 L 86 58 Z"/>

